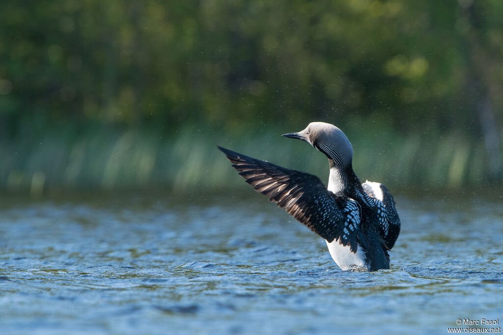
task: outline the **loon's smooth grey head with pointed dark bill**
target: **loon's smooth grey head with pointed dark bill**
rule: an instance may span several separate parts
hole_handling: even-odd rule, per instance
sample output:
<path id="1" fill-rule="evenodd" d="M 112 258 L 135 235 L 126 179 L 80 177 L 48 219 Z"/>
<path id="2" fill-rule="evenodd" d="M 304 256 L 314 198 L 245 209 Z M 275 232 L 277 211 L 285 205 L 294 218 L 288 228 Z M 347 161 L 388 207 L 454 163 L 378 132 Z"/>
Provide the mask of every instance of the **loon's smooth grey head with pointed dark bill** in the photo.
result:
<path id="1" fill-rule="evenodd" d="M 353 146 L 343 131 L 334 125 L 311 122 L 303 131 L 282 136 L 309 143 L 342 167 L 350 165 L 353 160 Z"/>

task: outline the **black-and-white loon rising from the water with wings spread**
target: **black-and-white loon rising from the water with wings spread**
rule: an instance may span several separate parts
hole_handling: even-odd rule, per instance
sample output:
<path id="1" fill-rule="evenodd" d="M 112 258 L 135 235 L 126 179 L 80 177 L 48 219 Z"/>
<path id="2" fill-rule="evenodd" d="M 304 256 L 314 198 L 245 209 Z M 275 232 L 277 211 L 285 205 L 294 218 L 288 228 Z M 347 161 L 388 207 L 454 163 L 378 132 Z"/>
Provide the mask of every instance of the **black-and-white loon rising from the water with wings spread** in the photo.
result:
<path id="1" fill-rule="evenodd" d="M 328 158 L 328 185 L 309 173 L 284 168 L 218 146 L 246 183 L 326 240 L 342 270 L 389 269 L 400 219 L 388 188 L 361 183 L 353 171 L 353 146 L 338 127 L 311 122 L 282 135 L 309 143 Z"/>

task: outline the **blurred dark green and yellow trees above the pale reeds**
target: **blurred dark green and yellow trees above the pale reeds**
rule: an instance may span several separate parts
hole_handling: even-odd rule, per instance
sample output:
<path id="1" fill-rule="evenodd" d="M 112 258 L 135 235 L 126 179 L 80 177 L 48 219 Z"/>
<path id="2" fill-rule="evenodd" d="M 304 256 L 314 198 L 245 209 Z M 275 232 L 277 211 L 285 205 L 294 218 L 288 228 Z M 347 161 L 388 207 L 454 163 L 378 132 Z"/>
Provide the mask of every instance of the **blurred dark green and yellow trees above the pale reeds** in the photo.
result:
<path id="1" fill-rule="evenodd" d="M 15 133 L 36 119 L 239 131 L 372 118 L 402 131 L 420 124 L 482 135 L 499 157 L 502 6 L 4 2 L 0 127 Z M 493 166 L 499 173 L 500 158 Z"/>

